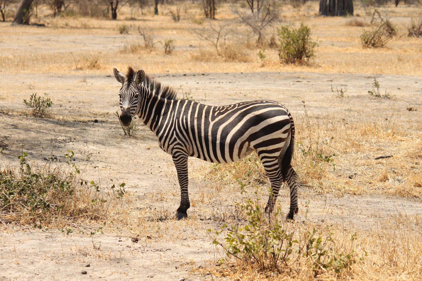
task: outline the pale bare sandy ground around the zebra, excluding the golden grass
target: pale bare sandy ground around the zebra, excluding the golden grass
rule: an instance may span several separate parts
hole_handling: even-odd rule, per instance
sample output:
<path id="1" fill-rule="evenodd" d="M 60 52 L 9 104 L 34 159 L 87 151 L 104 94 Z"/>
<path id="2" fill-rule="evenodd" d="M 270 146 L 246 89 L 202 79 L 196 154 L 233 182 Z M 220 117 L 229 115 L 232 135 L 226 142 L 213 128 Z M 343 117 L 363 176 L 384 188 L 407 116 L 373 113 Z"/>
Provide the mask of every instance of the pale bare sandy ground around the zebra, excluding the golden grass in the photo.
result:
<path id="1" fill-rule="evenodd" d="M 297 123 L 303 116 L 301 101 L 305 100 L 311 116 L 328 116 L 349 122 L 381 122 L 387 118 L 402 126 L 403 131 L 420 132 L 422 128 L 420 77 L 376 75 L 381 90 L 387 89 L 395 96 L 394 99 L 370 99 L 367 93 L 372 88 L 371 75 L 258 72 L 153 76 L 174 88 L 181 87 L 179 96 L 190 89 L 193 99 L 206 104 L 221 105 L 252 99 L 280 101 L 289 108 Z M 51 166 L 63 165 L 64 154 L 73 150 L 76 162 L 84 169 L 85 179 L 103 184 L 111 178 L 124 181 L 128 190 L 140 198 L 162 191 L 165 195 L 160 201 L 140 199 L 133 204 L 139 208 L 175 211 L 180 197 L 170 155 L 160 150 L 155 136 L 142 125 L 138 126 L 136 138 L 123 135 L 117 117 L 113 115 L 119 109 L 119 83 L 114 77 L 78 75 L 75 72 L 59 77 L 2 74 L 2 80 L 0 140 L 9 145 L 0 158 L 2 167 L 18 165 L 21 144 L 30 163 L 38 166 L 44 166 L 47 162 L 44 158 L 50 154 L 57 157 Z M 339 99 L 331 91 L 331 85 L 347 89 L 346 96 Z M 34 92 L 49 94 L 54 102 L 53 119 L 16 115 L 26 110 L 22 100 Z M 415 107 L 418 111 L 408 112 L 406 107 Z M 394 149 L 384 147 L 379 154 Z M 89 162 L 87 156 L 90 156 Z M 372 157 L 368 155 L 368 158 Z M 202 165 L 195 158 L 189 158 L 189 163 L 191 174 Z M 348 167 L 338 166 L 335 172 L 348 176 L 351 171 Z M 203 189 L 212 193 L 213 187 L 191 177 L 189 189 L 191 198 L 196 198 Z M 170 195 L 171 192 L 175 195 Z M 380 220 L 399 212 L 422 212 L 421 202 L 405 198 L 387 198 L 371 193 L 338 198 L 333 194 L 317 195 L 309 187 L 302 187 L 300 192 L 297 221 L 319 221 L 324 225 L 343 225 L 345 229 L 371 231 Z M 219 227 L 221 220 L 216 219 L 216 214 L 230 210 L 233 198 L 242 195 L 233 188 L 223 187 L 213 196 L 208 203 L 197 203 L 189 209 L 191 214 L 197 214 L 198 227 L 192 229 L 188 224 L 181 224 L 179 238 L 157 237 L 151 232 L 151 239 L 143 234 L 137 243 L 133 243 L 130 233 L 119 230 L 91 238 L 76 229 L 69 235 L 60 230 L 41 231 L 31 227 L 23 227 L 20 231 L 5 229 L 0 233 L 1 280 L 211 280 L 212 276 L 192 275 L 195 268 L 208 266 L 210 261 L 212 264 L 220 257 L 214 252 L 206 229 Z M 305 202 L 308 200 L 310 203 L 306 208 L 309 212 L 305 216 Z M 279 204 L 285 211 L 288 209 L 286 190 L 281 193 Z M 173 222 L 160 223 L 165 226 Z M 191 259 L 192 263 L 189 263 Z M 185 262 L 188 264 L 178 267 Z M 87 264 L 90 267 L 86 267 Z M 87 274 L 81 274 L 82 271 Z"/>

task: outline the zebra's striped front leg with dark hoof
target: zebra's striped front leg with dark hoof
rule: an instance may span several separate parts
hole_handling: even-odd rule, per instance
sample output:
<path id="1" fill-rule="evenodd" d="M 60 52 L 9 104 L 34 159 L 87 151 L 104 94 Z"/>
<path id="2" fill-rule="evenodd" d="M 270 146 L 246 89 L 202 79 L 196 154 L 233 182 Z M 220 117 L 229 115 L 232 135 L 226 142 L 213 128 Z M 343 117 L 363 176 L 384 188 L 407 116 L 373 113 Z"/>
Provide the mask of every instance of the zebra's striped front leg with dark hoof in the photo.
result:
<path id="1" fill-rule="evenodd" d="M 176 166 L 177 179 L 180 185 L 180 206 L 176 210 L 177 219 L 187 218 L 187 209 L 190 207 L 187 176 L 187 155 L 178 151 L 173 154 L 174 166 Z"/>

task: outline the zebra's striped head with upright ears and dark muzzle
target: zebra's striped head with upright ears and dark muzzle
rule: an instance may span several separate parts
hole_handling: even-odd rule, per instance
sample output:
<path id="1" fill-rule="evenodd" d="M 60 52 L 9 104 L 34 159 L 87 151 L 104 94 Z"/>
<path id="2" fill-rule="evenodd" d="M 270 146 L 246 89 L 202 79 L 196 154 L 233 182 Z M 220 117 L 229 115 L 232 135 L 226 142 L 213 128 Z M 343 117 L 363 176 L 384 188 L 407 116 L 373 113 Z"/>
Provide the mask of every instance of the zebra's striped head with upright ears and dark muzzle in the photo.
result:
<path id="1" fill-rule="evenodd" d="M 120 121 L 123 126 L 129 126 L 134 115 L 139 113 L 138 100 L 140 99 L 141 83 L 145 79 L 145 72 L 138 70 L 135 72 L 132 67 L 127 68 L 126 75 L 113 68 L 114 77 L 122 83 L 120 88 Z"/>

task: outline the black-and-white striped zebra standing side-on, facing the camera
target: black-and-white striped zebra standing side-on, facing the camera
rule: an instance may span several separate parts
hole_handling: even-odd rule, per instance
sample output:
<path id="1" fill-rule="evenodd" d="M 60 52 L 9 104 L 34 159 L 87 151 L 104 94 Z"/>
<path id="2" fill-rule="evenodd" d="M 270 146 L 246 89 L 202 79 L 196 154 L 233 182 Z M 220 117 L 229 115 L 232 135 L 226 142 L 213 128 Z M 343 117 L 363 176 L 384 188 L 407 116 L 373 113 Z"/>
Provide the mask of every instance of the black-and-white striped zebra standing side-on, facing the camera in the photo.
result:
<path id="1" fill-rule="evenodd" d="M 177 99 L 170 86 L 150 78 L 141 69 L 128 67 L 126 75 L 113 69 L 122 83 L 119 91 L 120 120 L 129 126 L 133 116 L 157 136 L 160 148 L 173 158 L 180 185 L 177 219 L 187 217 L 188 157 L 211 163 L 232 163 L 255 151 L 270 179 L 272 194 L 265 212 L 274 208 L 283 182 L 290 189 L 290 210 L 298 212 L 298 176 L 291 165 L 295 123 L 284 105 L 270 100 L 210 106 Z"/>

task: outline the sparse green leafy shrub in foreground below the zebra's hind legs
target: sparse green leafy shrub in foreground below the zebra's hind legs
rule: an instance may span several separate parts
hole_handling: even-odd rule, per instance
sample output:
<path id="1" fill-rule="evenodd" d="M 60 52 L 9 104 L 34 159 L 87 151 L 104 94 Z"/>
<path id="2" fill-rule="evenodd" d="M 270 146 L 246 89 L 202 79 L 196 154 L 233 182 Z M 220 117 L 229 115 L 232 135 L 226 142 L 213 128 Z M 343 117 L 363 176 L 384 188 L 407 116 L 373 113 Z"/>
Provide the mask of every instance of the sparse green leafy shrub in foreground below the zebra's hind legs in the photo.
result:
<path id="1" fill-rule="evenodd" d="M 343 252 L 339 251 L 330 229 L 325 234 L 315 228 L 299 233 L 278 219 L 283 217 L 280 209 L 271 222 L 268 214 L 250 198 L 238 204 L 237 208 L 246 214 L 248 223 L 228 227 L 224 242 L 220 242 L 217 237 L 227 227 L 223 225 L 220 231 L 215 232 L 213 243 L 222 246 L 228 258 L 234 257 L 242 270 L 270 270 L 293 275 L 301 270 L 311 270 L 316 278 L 330 271 L 340 275 L 356 263 L 353 249 L 355 234 L 350 237 L 350 249 Z M 208 232 L 212 233 L 212 230 L 208 229 Z"/>

